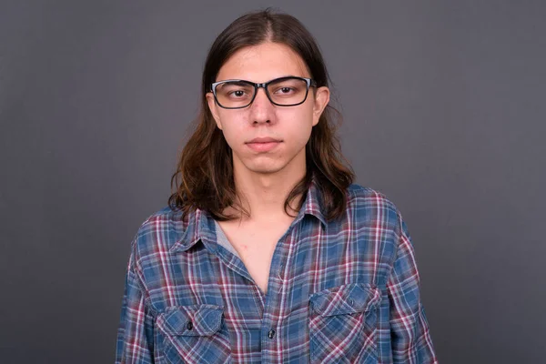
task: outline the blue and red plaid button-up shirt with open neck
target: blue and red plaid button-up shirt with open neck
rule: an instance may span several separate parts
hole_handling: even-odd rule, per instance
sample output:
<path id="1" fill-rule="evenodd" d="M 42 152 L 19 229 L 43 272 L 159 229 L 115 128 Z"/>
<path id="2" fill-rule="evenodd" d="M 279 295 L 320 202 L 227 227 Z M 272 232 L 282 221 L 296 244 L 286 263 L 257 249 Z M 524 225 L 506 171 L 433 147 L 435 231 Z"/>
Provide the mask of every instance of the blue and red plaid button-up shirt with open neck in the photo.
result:
<path id="1" fill-rule="evenodd" d="M 266 295 L 214 219 L 168 207 L 132 243 L 116 363 L 437 363 L 406 224 L 352 185 L 336 221 L 312 184 Z"/>

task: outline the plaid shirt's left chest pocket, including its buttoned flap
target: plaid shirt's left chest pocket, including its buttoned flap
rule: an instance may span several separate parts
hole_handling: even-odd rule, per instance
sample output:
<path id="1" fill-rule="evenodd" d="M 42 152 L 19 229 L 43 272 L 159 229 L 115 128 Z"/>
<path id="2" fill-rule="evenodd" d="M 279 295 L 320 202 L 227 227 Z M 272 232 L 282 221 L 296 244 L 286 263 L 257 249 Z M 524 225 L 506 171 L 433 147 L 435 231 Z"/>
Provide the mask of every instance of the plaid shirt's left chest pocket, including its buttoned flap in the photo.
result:
<path id="1" fill-rule="evenodd" d="M 157 316 L 160 354 L 167 363 L 229 363 L 223 308 L 214 305 L 167 308 Z"/>

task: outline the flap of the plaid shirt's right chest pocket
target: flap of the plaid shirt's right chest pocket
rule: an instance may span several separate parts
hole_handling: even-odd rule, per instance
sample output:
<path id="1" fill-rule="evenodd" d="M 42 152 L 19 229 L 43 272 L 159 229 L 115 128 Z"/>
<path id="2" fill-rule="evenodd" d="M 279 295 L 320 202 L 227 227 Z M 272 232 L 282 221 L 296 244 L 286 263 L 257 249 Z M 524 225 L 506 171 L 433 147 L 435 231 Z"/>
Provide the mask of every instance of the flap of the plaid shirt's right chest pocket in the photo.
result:
<path id="1" fill-rule="evenodd" d="M 314 312 L 334 316 L 369 311 L 380 299 L 378 288 L 366 283 L 349 283 L 314 293 L 309 301 Z"/>

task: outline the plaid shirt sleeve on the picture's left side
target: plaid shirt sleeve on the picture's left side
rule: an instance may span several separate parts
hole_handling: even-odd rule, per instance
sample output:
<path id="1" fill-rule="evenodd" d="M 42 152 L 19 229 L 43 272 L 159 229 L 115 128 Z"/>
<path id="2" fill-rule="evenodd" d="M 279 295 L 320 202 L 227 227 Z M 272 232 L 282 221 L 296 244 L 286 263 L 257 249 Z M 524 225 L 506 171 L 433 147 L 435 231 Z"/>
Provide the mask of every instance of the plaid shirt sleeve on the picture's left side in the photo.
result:
<path id="1" fill-rule="evenodd" d="M 153 364 L 153 316 L 136 274 L 135 250 L 126 269 L 126 283 L 117 329 L 116 364 Z"/>

